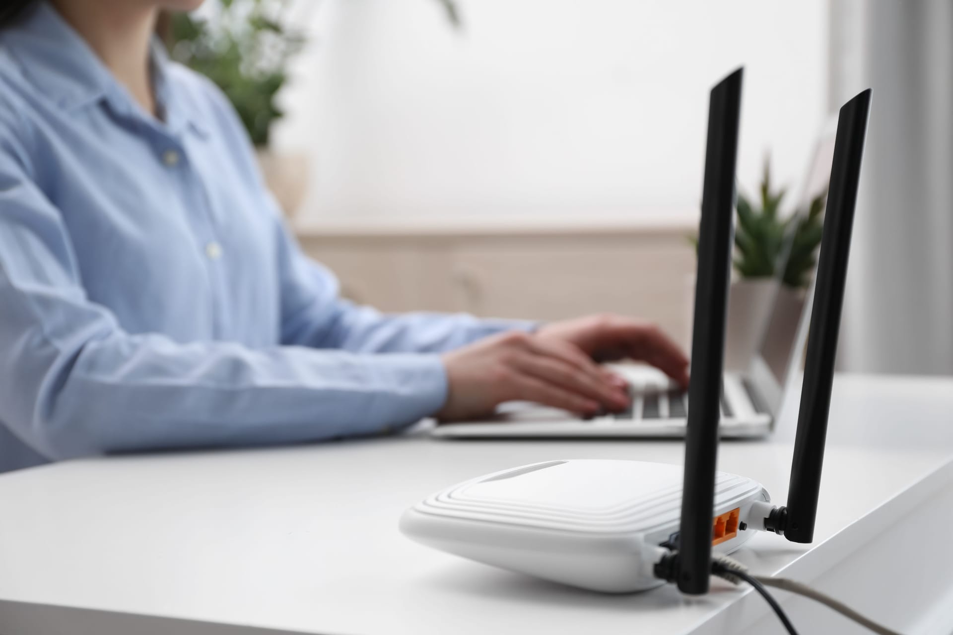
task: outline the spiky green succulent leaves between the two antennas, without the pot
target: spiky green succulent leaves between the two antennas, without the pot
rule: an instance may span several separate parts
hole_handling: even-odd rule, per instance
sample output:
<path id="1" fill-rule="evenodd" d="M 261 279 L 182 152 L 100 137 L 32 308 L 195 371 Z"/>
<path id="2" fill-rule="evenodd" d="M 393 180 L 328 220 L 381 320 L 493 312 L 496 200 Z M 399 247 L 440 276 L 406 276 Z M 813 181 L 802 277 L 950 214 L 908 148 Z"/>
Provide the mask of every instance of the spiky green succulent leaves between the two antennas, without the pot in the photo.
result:
<path id="1" fill-rule="evenodd" d="M 769 278 L 776 275 L 781 261 L 786 260 L 781 282 L 791 288 L 807 288 L 821 245 L 826 188 L 811 199 L 806 209 L 797 209 L 786 219 L 779 214 L 786 189 L 774 189 L 767 159 L 759 189 L 757 202 L 742 193 L 738 195 L 735 270 L 742 278 Z M 697 238 L 691 240 L 698 245 Z M 789 249 L 786 259 L 785 248 Z"/>

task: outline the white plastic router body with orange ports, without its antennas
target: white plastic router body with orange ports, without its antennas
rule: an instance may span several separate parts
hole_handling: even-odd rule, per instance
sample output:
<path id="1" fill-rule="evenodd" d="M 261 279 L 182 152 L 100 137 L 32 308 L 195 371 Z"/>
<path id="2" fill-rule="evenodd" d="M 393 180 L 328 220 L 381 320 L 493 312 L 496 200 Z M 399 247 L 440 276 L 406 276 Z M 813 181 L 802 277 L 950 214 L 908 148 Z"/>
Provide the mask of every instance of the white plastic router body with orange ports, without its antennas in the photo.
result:
<path id="1" fill-rule="evenodd" d="M 548 461 L 440 491 L 407 510 L 400 528 L 487 565 L 596 591 L 639 591 L 664 584 L 653 566 L 667 552 L 659 545 L 677 538 L 681 484 L 682 466 Z M 763 528 L 759 512 L 769 501 L 756 481 L 720 472 L 715 548 L 730 553 Z"/>

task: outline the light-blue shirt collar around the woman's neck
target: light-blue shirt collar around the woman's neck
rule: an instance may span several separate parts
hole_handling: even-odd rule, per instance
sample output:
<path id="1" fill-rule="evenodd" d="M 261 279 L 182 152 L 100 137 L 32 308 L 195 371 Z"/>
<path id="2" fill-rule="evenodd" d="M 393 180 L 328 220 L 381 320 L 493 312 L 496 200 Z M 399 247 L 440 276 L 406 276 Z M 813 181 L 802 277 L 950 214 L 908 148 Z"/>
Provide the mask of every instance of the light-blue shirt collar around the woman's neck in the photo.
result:
<path id="1" fill-rule="evenodd" d="M 37 2 L 4 34 L 30 81 L 64 109 L 79 109 L 106 100 L 126 116 L 149 117 L 112 76 L 86 41 L 47 2 Z M 172 81 L 172 62 L 158 37 L 151 45 L 156 101 L 172 132 L 186 128 L 205 134 L 196 105 Z"/>

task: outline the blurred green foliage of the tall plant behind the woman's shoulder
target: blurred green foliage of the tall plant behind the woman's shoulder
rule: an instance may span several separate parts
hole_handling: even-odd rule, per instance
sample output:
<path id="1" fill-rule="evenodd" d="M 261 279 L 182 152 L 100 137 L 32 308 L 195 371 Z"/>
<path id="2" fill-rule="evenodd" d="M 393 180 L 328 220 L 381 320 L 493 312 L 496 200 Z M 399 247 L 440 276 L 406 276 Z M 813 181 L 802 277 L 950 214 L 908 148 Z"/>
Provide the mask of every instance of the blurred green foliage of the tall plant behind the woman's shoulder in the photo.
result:
<path id="1" fill-rule="evenodd" d="M 456 0 L 438 2 L 459 28 Z M 284 116 L 275 98 L 288 82 L 289 63 L 307 43 L 305 31 L 290 24 L 292 4 L 215 0 L 211 10 L 173 14 L 169 25 L 172 57 L 225 92 L 258 147 L 268 145 L 274 122 Z"/>

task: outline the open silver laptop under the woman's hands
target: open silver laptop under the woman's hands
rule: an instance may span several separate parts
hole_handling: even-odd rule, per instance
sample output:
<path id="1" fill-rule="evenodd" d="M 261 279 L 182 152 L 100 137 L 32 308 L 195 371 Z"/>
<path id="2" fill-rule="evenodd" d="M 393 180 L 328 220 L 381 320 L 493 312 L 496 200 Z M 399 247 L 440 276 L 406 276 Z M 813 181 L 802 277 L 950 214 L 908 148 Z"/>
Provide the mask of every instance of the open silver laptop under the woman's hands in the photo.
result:
<path id="1" fill-rule="evenodd" d="M 827 187 L 834 157 L 837 119 L 827 121 L 818 135 L 815 151 L 801 184 L 799 209 Z M 791 238 L 781 256 L 790 255 Z M 741 369 L 725 370 L 721 386 L 722 438 L 760 438 L 775 427 L 790 378 L 801 367 L 812 292 L 794 291 L 781 284 L 777 268 L 772 307 L 753 358 Z M 812 276 L 813 278 L 813 276 Z M 813 280 L 811 283 L 813 288 Z M 810 289 L 808 289 L 810 291 Z M 742 365 L 744 366 L 744 365 Z M 565 410 L 527 402 L 497 408 L 486 421 L 433 427 L 431 434 L 447 439 L 474 438 L 684 438 L 688 413 L 687 391 L 676 387 L 655 368 L 636 364 L 608 365 L 629 384 L 631 407 L 624 412 L 580 419 Z"/>

